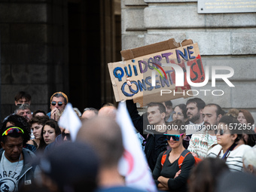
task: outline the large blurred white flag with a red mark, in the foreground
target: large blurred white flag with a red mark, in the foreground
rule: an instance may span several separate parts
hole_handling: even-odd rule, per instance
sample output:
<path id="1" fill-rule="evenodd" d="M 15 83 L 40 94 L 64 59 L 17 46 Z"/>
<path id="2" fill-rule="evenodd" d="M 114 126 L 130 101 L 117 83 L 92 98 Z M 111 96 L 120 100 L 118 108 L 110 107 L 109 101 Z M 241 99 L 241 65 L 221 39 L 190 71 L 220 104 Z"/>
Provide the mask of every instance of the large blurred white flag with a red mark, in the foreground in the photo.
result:
<path id="1" fill-rule="evenodd" d="M 119 163 L 119 172 L 125 176 L 126 186 L 146 191 L 157 191 L 148 162 L 124 102 L 119 103 L 116 120 L 122 131 L 125 150 Z"/>

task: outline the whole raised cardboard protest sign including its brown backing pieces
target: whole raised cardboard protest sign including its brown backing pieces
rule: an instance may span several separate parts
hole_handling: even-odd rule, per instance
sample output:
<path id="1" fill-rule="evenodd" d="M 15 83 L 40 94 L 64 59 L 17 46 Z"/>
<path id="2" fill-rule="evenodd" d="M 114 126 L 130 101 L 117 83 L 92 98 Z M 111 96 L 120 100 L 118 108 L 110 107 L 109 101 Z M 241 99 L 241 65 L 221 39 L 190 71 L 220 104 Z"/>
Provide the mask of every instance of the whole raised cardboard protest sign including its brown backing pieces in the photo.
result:
<path id="1" fill-rule="evenodd" d="M 121 54 L 123 61 L 108 63 L 117 102 L 133 99 L 142 106 L 152 101 L 186 98 L 191 94 L 190 82 L 199 83 L 205 79 L 199 48 L 192 40 L 178 44 L 169 39 L 122 50 Z M 126 78 L 131 79 L 131 87 L 126 84 Z"/>

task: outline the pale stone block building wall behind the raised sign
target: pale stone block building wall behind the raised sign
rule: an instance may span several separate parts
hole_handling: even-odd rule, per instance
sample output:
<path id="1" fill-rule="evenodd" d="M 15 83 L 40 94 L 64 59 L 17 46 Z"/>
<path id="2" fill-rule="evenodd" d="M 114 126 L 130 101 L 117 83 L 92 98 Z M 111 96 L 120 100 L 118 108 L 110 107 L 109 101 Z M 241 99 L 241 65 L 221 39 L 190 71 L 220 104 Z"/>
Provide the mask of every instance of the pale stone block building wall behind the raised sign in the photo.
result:
<path id="1" fill-rule="evenodd" d="M 200 93 L 198 97 L 218 103 L 226 111 L 246 108 L 256 119 L 256 13 L 197 14 L 196 0 L 122 0 L 121 10 L 122 49 L 169 38 L 177 42 L 192 39 L 199 45 L 204 68 L 230 66 L 234 70 L 230 81 L 235 87 L 224 81 L 212 87 L 209 81 L 202 89 L 223 90 L 224 96 Z"/>

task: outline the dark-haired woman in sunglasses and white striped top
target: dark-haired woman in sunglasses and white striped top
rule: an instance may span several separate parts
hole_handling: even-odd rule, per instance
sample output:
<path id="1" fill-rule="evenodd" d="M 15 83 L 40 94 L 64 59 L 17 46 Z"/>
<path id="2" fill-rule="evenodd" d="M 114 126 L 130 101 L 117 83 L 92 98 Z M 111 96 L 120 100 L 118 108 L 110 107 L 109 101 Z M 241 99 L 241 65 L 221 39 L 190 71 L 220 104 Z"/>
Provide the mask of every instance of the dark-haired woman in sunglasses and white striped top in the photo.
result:
<path id="1" fill-rule="evenodd" d="M 242 171 L 242 156 L 245 151 L 251 149 L 248 145 L 243 145 L 239 142 L 242 139 L 242 129 L 240 130 L 239 121 L 230 115 L 224 115 L 218 123 L 217 142 L 212 148 L 208 157 L 221 158 L 227 163 L 230 171 Z"/>

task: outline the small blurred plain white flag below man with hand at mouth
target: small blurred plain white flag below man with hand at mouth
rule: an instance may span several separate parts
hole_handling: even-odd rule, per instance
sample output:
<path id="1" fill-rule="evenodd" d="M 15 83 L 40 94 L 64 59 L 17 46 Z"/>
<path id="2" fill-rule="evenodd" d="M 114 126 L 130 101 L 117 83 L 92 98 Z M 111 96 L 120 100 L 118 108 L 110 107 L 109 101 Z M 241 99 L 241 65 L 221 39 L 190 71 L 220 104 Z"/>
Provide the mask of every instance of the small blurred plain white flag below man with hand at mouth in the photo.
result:
<path id="1" fill-rule="evenodd" d="M 78 130 L 82 126 L 82 123 L 70 102 L 66 105 L 62 116 L 59 118 L 59 126 L 69 130 L 71 139 L 75 142 L 75 138 L 78 134 Z"/>

